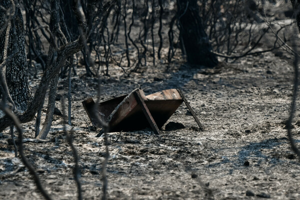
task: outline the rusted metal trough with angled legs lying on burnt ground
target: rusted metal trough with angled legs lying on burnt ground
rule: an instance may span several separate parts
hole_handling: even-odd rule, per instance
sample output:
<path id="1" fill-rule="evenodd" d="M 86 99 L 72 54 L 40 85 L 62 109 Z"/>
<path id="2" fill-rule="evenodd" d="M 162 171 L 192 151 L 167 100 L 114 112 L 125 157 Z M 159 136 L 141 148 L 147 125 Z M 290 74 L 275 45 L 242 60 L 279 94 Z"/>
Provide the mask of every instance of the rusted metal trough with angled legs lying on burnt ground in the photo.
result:
<path id="1" fill-rule="evenodd" d="M 108 123 L 110 132 L 151 127 L 155 134 L 159 134 L 159 128 L 183 101 L 203 130 L 195 112 L 179 89 L 166 89 L 147 96 L 142 89 L 134 89 L 128 95 L 103 101 L 97 105 L 92 98 L 84 100 L 82 104 L 96 127 L 101 127 L 100 118 Z"/>

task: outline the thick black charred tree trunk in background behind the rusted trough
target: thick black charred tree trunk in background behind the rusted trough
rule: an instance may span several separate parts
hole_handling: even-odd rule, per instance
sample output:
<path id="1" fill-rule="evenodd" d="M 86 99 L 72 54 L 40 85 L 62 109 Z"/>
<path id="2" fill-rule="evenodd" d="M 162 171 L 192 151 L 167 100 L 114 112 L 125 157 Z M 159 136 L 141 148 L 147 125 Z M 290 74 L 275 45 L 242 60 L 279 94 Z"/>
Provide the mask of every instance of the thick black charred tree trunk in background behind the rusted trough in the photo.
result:
<path id="1" fill-rule="evenodd" d="M 205 33 L 197 0 L 177 0 L 180 41 L 184 47 L 187 62 L 194 65 L 215 66 L 218 61 L 211 53 L 211 44 Z"/>

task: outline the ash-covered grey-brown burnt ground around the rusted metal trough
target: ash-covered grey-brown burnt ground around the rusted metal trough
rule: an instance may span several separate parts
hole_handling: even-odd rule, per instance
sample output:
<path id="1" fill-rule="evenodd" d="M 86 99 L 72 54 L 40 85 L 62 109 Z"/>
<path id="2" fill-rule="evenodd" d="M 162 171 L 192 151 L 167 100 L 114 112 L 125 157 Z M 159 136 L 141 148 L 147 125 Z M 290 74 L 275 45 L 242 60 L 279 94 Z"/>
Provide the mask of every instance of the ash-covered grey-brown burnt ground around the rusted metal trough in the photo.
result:
<path id="1" fill-rule="evenodd" d="M 285 128 L 292 97 L 292 61 L 288 53 L 276 50 L 234 63 L 220 62 L 214 68 L 193 68 L 175 56 L 167 72 L 161 63 L 141 67 L 129 76 L 111 63 L 110 76 L 100 80 L 101 100 L 129 93 L 138 84 L 146 94 L 180 88 L 205 130 L 197 128 L 182 103 L 169 119 L 182 123 L 182 129 L 163 127 L 159 136 L 151 129 L 108 133 L 108 198 L 300 199 L 300 165 Z M 83 66 L 76 70 L 72 126 L 82 195 L 99 199 L 104 138 L 95 137 L 99 129 L 91 127 L 81 104 L 87 97 L 96 98 L 98 79 L 86 77 Z M 31 77 L 33 90 L 38 77 Z M 66 96 L 66 92 L 67 82 L 62 79 L 58 94 Z M 59 100 L 56 106 L 61 110 Z M 299 116 L 296 112 L 293 121 L 296 142 L 300 141 Z M 34 121 L 22 127 L 24 137 L 34 137 Z M 0 199 L 42 199 L 28 170 L 14 157 L 9 137 L 8 129 L 0 135 Z M 53 140 L 24 143 L 25 154 L 53 199 L 76 199 L 72 151 L 60 116 L 54 115 L 47 138 Z"/>

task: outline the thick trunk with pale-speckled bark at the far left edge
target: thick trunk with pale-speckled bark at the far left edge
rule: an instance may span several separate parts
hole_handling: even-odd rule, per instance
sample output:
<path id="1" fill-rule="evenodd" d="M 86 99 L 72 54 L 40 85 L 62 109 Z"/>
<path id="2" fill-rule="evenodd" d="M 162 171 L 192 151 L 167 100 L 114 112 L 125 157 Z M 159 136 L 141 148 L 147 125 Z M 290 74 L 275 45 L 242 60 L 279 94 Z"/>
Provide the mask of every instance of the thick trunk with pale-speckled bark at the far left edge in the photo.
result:
<path id="1" fill-rule="evenodd" d="M 6 9 L 11 7 L 9 0 L 0 1 L 0 5 Z M 7 19 L 5 11 L 0 9 L 0 24 Z M 7 55 L 13 51 L 13 45 L 17 44 L 17 52 L 12 60 L 6 65 L 6 82 L 10 96 L 18 110 L 25 110 L 27 103 L 31 100 L 31 91 L 28 84 L 28 65 L 25 50 L 24 23 L 18 1 L 15 1 L 15 13 L 11 18 L 11 26 L 15 26 L 16 37 L 12 37 L 10 29 L 7 46 Z M 5 32 L 0 35 L 0 62 L 3 61 L 3 49 Z"/>

